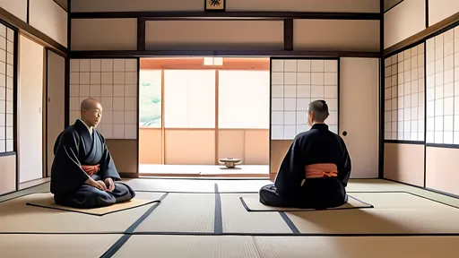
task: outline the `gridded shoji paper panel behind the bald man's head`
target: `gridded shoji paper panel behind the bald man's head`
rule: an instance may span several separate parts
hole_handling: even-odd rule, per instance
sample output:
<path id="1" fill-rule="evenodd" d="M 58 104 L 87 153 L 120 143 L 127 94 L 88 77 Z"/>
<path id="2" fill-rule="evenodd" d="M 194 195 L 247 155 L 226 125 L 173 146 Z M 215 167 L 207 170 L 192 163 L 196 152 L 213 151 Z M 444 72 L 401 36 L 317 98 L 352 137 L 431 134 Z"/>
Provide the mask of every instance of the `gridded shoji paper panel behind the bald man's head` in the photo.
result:
<path id="1" fill-rule="evenodd" d="M 105 138 L 137 139 L 137 59 L 71 59 L 71 125 L 90 97 L 102 105 L 98 130 Z"/>

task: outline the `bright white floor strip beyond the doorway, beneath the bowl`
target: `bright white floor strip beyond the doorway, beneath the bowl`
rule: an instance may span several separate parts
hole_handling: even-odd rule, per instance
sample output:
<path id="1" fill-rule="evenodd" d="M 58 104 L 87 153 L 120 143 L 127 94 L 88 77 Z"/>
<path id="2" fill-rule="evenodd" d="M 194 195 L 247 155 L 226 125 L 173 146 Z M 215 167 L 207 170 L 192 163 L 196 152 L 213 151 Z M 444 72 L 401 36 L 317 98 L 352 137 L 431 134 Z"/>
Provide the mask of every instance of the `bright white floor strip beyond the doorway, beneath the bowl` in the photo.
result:
<path id="1" fill-rule="evenodd" d="M 226 168 L 216 165 L 139 165 L 139 173 L 149 176 L 179 175 L 179 176 L 269 176 L 268 165 L 236 165 L 236 168 Z"/>

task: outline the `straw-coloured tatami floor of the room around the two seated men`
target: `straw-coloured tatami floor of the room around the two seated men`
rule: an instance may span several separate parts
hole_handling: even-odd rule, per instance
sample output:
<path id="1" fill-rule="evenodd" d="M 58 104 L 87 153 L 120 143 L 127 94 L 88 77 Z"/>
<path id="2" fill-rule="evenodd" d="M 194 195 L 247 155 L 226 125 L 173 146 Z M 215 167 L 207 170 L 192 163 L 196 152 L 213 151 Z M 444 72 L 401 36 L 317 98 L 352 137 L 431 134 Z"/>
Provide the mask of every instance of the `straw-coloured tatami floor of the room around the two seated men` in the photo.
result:
<path id="1" fill-rule="evenodd" d="M 0 257 L 457 256 L 459 199 L 409 185 L 351 179 L 348 193 L 370 209 L 254 212 L 242 199 L 269 180 L 125 182 L 160 202 L 94 216 L 26 204 L 49 183 L 0 197 Z"/>

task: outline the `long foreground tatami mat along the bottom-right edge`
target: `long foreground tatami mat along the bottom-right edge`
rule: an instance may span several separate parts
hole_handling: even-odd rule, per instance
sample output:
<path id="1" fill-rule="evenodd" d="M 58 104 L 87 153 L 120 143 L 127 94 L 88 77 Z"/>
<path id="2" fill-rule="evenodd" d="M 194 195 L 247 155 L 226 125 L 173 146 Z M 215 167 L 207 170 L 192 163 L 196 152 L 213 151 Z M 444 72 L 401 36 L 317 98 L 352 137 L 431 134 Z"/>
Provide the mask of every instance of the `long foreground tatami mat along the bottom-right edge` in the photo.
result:
<path id="1" fill-rule="evenodd" d="M 452 258 L 459 236 L 255 236 L 263 258 Z"/>

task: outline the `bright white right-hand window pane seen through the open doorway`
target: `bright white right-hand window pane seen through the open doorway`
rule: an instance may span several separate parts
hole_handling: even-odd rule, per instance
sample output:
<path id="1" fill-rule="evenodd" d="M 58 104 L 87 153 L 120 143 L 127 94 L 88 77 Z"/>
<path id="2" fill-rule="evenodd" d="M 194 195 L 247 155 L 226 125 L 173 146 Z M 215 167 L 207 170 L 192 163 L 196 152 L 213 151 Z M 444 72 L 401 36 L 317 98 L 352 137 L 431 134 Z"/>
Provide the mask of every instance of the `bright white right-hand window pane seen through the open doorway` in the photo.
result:
<path id="1" fill-rule="evenodd" d="M 269 71 L 219 72 L 219 128 L 269 129 Z"/>

